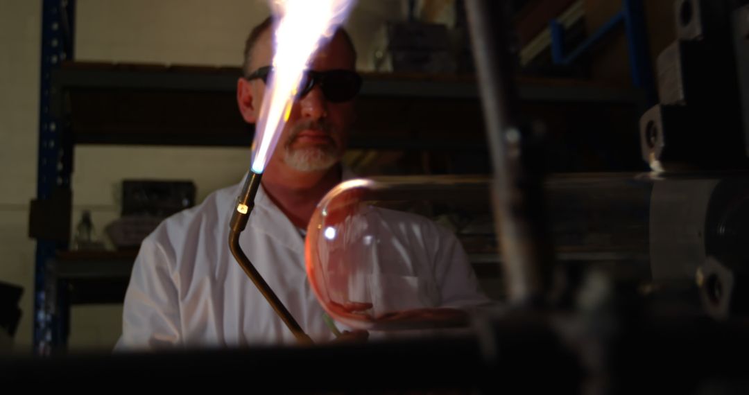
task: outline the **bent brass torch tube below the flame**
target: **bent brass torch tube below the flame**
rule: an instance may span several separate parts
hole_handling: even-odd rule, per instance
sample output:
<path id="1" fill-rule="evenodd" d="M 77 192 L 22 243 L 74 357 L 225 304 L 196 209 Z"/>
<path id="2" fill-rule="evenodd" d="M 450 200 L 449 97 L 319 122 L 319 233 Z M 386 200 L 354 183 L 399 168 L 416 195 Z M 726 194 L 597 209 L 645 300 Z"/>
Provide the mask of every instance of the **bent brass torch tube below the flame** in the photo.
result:
<path id="1" fill-rule="evenodd" d="M 252 284 L 255 284 L 255 287 L 265 297 L 270 307 L 273 307 L 273 310 L 281 317 L 289 330 L 291 330 L 291 333 L 294 334 L 294 337 L 297 337 L 299 343 L 312 344 L 312 339 L 304 333 L 302 327 L 294 319 L 294 316 L 291 316 L 291 313 L 286 310 L 282 301 L 270 289 L 270 286 L 265 282 L 258 270 L 255 269 L 255 266 L 252 266 L 252 262 L 249 261 L 249 258 L 244 254 L 239 245 L 239 235 L 246 227 L 249 214 L 255 207 L 255 195 L 258 193 L 258 188 L 260 188 L 261 177 L 261 174 L 250 171 L 244 183 L 242 193 L 237 198 L 237 204 L 234 207 L 234 213 L 231 215 L 231 222 L 229 223 L 229 250 L 231 250 L 231 254 L 234 255 L 234 259 L 237 260 L 237 263 L 239 263 L 239 266 L 244 270 L 247 277 L 252 280 Z"/>

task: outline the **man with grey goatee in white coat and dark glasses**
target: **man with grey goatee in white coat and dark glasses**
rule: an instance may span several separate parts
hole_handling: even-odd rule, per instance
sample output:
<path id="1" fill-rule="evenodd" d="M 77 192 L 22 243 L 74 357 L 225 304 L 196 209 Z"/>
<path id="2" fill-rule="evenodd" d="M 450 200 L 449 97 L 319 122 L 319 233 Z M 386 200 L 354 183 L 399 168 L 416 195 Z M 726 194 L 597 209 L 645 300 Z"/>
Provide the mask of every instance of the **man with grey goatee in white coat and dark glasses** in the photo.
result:
<path id="1" fill-rule="evenodd" d="M 245 77 L 237 82 L 237 103 L 248 123 L 258 120 L 270 71 L 271 27 L 271 19 L 266 19 L 246 43 Z M 325 84 L 308 80 L 312 84 L 294 103 L 240 237 L 249 260 L 317 342 L 335 336 L 306 279 L 303 235 L 321 198 L 352 177 L 340 160 L 354 122 L 353 99 L 358 91 L 358 86 L 351 91 L 343 79 L 352 78 L 355 63 L 354 46 L 342 29 L 315 54 L 308 76 Z M 199 206 L 164 221 L 144 240 L 125 296 L 118 349 L 294 342 L 291 331 L 228 250 L 228 221 L 239 192 L 240 185 L 214 192 Z M 428 230 L 436 232 L 430 234 L 437 247 L 440 240 L 452 236 L 437 227 Z M 448 241 L 451 248 L 456 244 L 454 237 Z M 451 257 L 453 253 L 458 257 L 455 264 L 442 259 L 439 268 L 430 268 L 439 269 L 440 275 L 430 275 L 438 280 L 424 287 L 431 296 L 421 307 L 486 301 L 462 249 L 458 245 L 451 251 Z"/>

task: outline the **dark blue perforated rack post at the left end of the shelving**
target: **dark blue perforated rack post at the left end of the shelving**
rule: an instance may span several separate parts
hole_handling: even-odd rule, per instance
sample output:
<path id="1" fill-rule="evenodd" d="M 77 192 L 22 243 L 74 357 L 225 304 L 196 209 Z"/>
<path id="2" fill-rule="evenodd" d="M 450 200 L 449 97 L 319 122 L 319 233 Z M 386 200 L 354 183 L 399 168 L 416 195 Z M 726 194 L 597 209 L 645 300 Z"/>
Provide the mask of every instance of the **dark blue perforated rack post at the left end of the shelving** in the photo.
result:
<path id="1" fill-rule="evenodd" d="M 52 72 L 62 61 L 73 58 L 75 0 L 42 1 L 42 42 L 39 100 L 39 157 L 37 164 L 37 200 L 52 199 L 55 191 L 70 191 L 72 149 L 64 138 L 67 123 L 53 111 L 55 95 Z M 50 292 L 55 286 L 46 278 L 46 264 L 55 251 L 67 248 L 66 242 L 37 239 L 34 275 L 34 353 L 49 355 L 53 347 L 67 338 L 67 317 L 55 313 Z M 50 286 L 52 285 L 52 286 Z M 54 299 L 54 298 L 52 298 Z"/>

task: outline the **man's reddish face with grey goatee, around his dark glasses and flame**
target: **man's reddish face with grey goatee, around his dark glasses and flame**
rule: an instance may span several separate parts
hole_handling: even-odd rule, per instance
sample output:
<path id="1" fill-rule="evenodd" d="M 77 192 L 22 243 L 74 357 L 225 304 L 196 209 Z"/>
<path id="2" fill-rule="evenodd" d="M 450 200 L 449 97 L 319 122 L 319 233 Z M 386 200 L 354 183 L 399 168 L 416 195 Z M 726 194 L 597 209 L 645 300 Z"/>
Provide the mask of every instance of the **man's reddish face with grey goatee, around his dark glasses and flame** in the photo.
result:
<path id="1" fill-rule="evenodd" d="M 270 30 L 259 37 L 252 50 L 249 72 L 269 66 L 273 58 Z M 321 48 L 312 59 L 310 69 L 315 71 L 354 70 L 354 53 L 341 34 Z M 252 111 L 255 120 L 260 114 L 265 84 L 254 79 L 252 85 Z M 297 99 L 291 108 L 282 135 L 270 161 L 286 165 L 297 171 L 322 171 L 335 165 L 345 151 L 348 131 L 354 122 L 354 101 L 330 102 L 319 85 Z"/>

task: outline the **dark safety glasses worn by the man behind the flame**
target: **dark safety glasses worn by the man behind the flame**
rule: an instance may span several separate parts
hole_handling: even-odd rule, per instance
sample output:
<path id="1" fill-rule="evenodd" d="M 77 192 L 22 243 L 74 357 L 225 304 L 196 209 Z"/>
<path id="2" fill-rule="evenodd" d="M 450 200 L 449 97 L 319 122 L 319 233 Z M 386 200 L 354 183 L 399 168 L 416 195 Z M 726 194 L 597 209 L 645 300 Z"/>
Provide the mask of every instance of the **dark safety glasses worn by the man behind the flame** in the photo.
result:
<path id="1" fill-rule="evenodd" d="M 272 72 L 273 67 L 260 67 L 246 76 L 245 79 L 247 81 L 262 79 L 263 82 L 267 83 L 268 75 Z M 327 101 L 348 102 L 359 94 L 359 90 L 362 88 L 362 77 L 351 70 L 306 70 L 297 97 L 304 97 L 309 91 L 312 91 L 312 88 L 315 88 L 316 84 L 320 85 Z"/>

